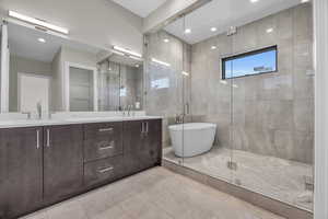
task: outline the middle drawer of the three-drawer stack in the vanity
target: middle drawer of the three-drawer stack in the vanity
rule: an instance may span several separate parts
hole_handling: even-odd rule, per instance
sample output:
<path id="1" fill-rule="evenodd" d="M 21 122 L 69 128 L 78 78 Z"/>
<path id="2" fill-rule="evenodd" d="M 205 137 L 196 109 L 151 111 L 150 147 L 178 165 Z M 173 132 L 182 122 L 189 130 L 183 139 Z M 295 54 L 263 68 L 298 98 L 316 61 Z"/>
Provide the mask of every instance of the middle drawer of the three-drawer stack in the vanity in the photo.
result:
<path id="1" fill-rule="evenodd" d="M 120 137 L 87 139 L 84 141 L 84 161 L 110 158 L 122 153 Z"/>

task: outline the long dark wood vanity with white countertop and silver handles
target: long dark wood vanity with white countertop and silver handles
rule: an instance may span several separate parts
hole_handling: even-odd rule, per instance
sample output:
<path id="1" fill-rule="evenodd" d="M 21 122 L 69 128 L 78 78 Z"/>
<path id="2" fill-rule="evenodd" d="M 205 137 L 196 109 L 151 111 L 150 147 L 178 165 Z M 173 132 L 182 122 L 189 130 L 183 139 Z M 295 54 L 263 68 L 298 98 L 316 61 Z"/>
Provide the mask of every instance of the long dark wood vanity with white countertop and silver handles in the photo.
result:
<path id="1" fill-rule="evenodd" d="M 160 117 L 0 123 L 0 218 L 160 165 L 161 143 Z"/>

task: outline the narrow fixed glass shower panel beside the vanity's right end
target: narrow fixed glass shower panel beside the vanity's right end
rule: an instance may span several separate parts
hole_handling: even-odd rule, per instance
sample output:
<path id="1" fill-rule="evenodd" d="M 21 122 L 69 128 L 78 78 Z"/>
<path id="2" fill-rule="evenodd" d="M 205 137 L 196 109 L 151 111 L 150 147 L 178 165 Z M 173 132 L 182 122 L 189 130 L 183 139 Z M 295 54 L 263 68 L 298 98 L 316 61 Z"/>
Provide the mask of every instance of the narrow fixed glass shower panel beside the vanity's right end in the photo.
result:
<path id="1" fill-rule="evenodd" d="M 183 164 L 183 43 L 165 31 L 145 36 L 145 112 L 163 116 L 163 159 Z"/>

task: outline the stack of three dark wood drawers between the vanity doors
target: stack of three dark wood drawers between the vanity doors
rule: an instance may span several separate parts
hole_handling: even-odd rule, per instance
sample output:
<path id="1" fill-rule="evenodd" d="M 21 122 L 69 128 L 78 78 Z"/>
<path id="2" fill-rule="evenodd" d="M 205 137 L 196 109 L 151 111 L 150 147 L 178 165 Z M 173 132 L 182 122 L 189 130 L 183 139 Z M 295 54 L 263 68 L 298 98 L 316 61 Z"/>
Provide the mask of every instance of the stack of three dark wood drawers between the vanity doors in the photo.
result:
<path id="1" fill-rule="evenodd" d="M 84 125 L 84 186 L 109 183 L 122 173 L 122 123 Z"/>

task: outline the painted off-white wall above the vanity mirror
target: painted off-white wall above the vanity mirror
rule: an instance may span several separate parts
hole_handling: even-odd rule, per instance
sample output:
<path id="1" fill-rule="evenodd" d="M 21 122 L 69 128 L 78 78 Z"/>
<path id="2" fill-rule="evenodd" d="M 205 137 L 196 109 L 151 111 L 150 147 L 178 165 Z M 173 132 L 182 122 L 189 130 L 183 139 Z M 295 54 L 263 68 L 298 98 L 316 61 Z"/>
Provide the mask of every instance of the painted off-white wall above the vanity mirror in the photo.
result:
<path id="1" fill-rule="evenodd" d="M 110 0 L 0 0 L 0 18 L 8 10 L 68 27 L 81 43 L 142 51 L 142 19 Z"/>

